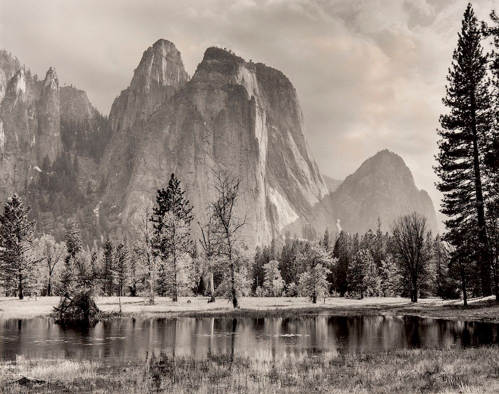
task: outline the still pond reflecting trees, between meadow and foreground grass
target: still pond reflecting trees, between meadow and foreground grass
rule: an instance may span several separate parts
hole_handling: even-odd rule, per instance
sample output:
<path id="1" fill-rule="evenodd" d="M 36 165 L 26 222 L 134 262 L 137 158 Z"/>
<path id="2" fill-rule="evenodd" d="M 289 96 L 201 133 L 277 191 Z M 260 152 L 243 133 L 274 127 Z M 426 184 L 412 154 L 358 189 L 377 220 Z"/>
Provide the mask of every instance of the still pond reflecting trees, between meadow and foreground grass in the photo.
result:
<path id="1" fill-rule="evenodd" d="M 148 360 L 153 354 L 202 358 L 224 353 L 265 358 L 366 353 L 401 348 L 498 344 L 497 324 L 410 316 L 124 319 L 60 327 L 48 319 L 0 320 L 0 355 Z"/>

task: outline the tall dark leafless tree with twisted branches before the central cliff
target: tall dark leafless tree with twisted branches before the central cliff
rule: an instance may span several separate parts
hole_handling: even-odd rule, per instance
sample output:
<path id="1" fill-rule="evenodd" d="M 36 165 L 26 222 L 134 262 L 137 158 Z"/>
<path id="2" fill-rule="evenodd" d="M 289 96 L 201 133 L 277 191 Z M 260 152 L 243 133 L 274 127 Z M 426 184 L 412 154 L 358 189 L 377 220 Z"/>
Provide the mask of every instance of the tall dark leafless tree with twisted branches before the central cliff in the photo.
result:
<path id="1" fill-rule="evenodd" d="M 247 224 L 247 215 L 239 217 L 236 212 L 236 203 L 244 194 L 242 190 L 243 176 L 234 175 L 230 171 L 214 173 L 214 188 L 218 197 L 210 204 L 213 212 L 213 235 L 217 239 L 217 253 L 227 258 L 231 271 L 231 299 L 234 308 L 239 308 L 236 284 L 236 264 L 234 247 L 243 237 L 242 228 Z"/>

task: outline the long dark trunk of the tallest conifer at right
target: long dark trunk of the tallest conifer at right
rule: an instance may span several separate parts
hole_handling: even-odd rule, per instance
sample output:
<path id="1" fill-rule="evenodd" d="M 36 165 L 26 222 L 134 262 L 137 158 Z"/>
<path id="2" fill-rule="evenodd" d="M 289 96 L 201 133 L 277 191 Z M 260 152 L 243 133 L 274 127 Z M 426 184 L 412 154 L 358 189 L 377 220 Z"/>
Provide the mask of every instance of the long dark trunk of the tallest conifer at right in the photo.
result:
<path id="1" fill-rule="evenodd" d="M 475 195 L 477 205 L 478 230 L 482 250 L 482 261 L 480 261 L 480 274 L 482 284 L 482 296 L 491 295 L 491 264 L 489 253 L 489 242 L 485 221 L 484 196 L 482 193 L 482 177 L 480 175 L 480 157 L 478 150 L 478 133 L 476 119 L 475 92 L 471 92 L 471 122 L 473 132 L 473 170 L 475 174 Z"/>

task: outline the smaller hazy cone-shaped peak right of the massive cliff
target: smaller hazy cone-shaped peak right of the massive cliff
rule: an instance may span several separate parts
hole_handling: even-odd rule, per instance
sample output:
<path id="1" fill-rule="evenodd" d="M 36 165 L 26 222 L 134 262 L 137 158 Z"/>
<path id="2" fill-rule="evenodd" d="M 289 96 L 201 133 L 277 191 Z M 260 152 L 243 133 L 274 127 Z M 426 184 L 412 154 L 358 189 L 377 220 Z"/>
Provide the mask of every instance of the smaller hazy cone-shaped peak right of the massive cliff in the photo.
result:
<path id="1" fill-rule="evenodd" d="M 434 234 L 439 232 L 430 196 L 416 187 L 402 158 L 388 150 L 367 159 L 331 197 L 341 228 L 350 233 L 374 230 L 378 217 L 388 231 L 397 216 L 414 211 L 427 217 Z"/>

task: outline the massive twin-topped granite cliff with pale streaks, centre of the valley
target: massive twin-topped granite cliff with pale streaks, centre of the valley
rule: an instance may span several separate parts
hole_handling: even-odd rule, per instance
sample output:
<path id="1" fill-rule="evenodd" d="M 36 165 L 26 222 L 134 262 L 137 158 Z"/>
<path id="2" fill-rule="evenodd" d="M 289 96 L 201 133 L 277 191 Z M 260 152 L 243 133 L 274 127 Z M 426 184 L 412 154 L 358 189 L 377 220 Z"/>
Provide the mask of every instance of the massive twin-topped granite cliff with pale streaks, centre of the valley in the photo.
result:
<path id="1" fill-rule="evenodd" d="M 336 222 L 296 91 L 280 71 L 212 47 L 187 81 L 180 53 L 160 40 L 115 100 L 109 123 L 103 201 L 113 201 L 107 211 L 122 224 L 139 196 L 154 198 L 171 173 L 203 217 L 221 170 L 244 177 L 238 215 L 247 217 L 250 244 L 299 237 L 307 223 L 323 232 Z"/>

